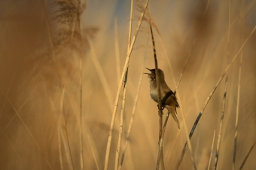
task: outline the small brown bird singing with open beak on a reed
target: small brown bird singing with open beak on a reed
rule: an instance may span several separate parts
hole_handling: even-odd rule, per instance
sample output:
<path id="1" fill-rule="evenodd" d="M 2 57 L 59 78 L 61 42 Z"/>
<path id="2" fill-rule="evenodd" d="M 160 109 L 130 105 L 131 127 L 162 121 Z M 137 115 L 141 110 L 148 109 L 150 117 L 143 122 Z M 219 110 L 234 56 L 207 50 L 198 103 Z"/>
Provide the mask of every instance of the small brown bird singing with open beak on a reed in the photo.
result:
<path id="1" fill-rule="evenodd" d="M 145 74 L 148 74 L 151 99 L 153 99 L 154 102 L 158 103 L 156 70 L 149 69 L 149 68 L 147 69 L 151 71 L 151 73 L 145 73 Z M 164 80 L 163 71 L 158 68 L 158 72 L 159 72 L 159 80 L 160 80 L 160 93 L 161 93 L 162 107 L 167 108 L 168 113 L 172 114 L 173 119 L 178 124 L 178 129 L 180 129 L 177 112 L 176 112 L 176 108 L 179 108 L 177 98 L 175 96 L 175 93 L 173 93 L 172 90 L 170 90 L 170 88 L 167 86 L 166 81 Z"/>

